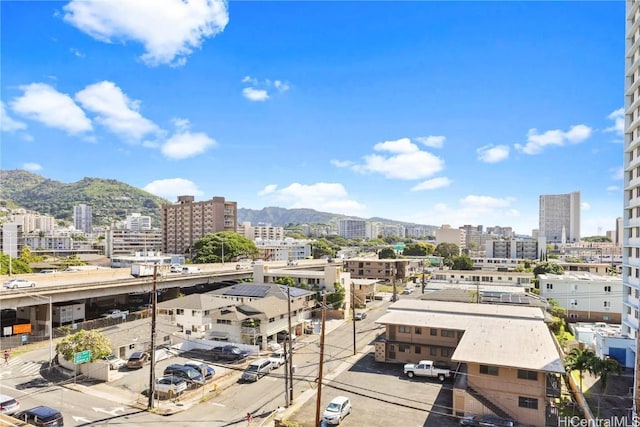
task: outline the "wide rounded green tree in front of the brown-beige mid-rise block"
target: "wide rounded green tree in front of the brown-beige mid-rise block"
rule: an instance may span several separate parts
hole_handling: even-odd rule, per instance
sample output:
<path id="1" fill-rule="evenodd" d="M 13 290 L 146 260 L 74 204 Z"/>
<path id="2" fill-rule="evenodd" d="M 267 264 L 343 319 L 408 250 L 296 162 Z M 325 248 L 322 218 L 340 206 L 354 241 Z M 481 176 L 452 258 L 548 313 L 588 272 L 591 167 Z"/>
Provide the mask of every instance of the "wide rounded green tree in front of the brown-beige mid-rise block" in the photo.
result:
<path id="1" fill-rule="evenodd" d="M 255 243 L 233 231 L 207 234 L 196 240 L 189 248 L 194 264 L 232 261 L 241 257 L 255 258 L 258 248 Z"/>

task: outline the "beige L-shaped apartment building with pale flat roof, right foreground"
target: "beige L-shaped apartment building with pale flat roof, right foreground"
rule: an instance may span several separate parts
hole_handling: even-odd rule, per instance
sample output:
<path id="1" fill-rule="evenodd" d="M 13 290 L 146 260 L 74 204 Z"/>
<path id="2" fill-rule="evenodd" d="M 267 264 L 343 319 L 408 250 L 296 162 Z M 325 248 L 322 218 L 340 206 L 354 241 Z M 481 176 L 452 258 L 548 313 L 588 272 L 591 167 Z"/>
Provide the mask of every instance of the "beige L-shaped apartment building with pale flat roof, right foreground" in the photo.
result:
<path id="1" fill-rule="evenodd" d="M 434 360 L 457 369 L 455 415 L 558 425 L 554 402 L 565 371 L 540 308 L 400 300 L 376 323 L 386 328 L 377 361 Z"/>

